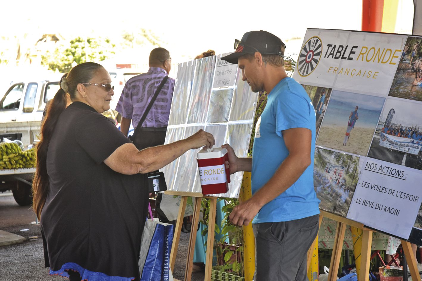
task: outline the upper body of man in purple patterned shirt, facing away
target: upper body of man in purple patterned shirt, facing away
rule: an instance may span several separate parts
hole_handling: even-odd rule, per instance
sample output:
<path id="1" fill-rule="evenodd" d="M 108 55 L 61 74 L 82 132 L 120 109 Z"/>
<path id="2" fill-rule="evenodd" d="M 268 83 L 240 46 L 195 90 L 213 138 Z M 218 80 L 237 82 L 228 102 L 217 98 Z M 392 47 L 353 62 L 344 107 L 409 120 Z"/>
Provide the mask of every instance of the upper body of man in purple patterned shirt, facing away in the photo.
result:
<path id="1" fill-rule="evenodd" d="M 148 72 L 130 78 L 124 85 L 116 111 L 122 115 L 120 131 L 125 136 L 129 131 L 130 121 L 134 128 L 138 126 L 146 107 L 163 78 L 170 72 L 170 68 L 170 53 L 165 48 L 155 48 L 149 54 Z M 141 127 L 167 127 L 174 82 L 173 78 L 168 78 L 165 82 Z"/>

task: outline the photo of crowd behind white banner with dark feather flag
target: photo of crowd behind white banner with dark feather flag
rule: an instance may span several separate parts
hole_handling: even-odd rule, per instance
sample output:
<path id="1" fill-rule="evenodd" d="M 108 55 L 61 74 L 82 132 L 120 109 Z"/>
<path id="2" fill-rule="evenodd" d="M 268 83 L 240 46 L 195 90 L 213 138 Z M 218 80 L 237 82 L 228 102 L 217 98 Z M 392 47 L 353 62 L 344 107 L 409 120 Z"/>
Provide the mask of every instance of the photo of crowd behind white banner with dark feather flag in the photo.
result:
<path id="1" fill-rule="evenodd" d="M 422 170 L 422 104 L 387 99 L 368 157 Z M 390 139 L 389 146 L 383 145 Z"/>

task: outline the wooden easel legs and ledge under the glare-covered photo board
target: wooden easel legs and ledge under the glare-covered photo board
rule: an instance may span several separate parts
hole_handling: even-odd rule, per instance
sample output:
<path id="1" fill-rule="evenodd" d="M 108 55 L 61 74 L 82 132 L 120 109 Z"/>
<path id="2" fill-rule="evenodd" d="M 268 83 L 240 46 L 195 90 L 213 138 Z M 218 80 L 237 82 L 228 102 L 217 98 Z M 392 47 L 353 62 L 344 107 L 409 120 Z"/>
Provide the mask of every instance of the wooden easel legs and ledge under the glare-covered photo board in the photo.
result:
<path id="1" fill-rule="evenodd" d="M 186 270 L 184 281 L 190 281 L 192 278 L 192 266 L 193 266 L 193 255 L 195 252 L 195 242 L 196 242 L 196 233 L 197 225 L 199 222 L 199 213 L 201 209 L 201 199 L 208 198 L 210 199 L 210 212 L 208 219 L 208 238 L 207 238 L 207 250 L 206 250 L 206 263 L 205 263 L 205 281 L 211 281 L 211 268 L 212 268 L 212 257 L 214 252 L 214 231 L 215 231 L 215 218 L 216 218 L 216 207 L 217 207 L 217 197 L 214 196 L 204 196 L 202 193 L 197 192 L 182 192 L 182 191 L 165 191 L 165 195 L 176 195 L 181 196 L 179 213 L 177 215 L 176 229 L 174 230 L 173 236 L 173 246 L 170 252 L 170 268 L 173 272 L 174 263 L 176 262 L 177 249 L 179 247 L 180 233 L 183 223 L 183 216 L 186 209 L 186 203 L 188 197 L 195 198 L 195 204 L 193 207 L 193 218 L 192 218 L 192 227 L 190 230 L 189 236 L 189 246 L 186 259 Z M 175 281 L 180 281 L 174 279 Z"/>

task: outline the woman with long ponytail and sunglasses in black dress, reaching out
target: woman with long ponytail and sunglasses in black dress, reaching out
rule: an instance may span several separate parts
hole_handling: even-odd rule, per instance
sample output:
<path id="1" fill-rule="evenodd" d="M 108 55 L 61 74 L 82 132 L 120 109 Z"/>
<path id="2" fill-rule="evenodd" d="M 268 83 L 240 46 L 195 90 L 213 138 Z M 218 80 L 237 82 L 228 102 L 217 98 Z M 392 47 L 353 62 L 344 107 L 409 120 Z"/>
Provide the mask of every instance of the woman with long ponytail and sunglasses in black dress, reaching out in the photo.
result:
<path id="1" fill-rule="evenodd" d="M 33 208 L 41 220 L 45 265 L 73 280 L 139 280 L 148 207 L 144 175 L 189 149 L 212 147 L 198 131 L 139 151 L 100 113 L 114 95 L 100 64 L 73 67 L 48 108 L 37 145 Z M 68 107 L 66 93 L 73 101 Z"/>

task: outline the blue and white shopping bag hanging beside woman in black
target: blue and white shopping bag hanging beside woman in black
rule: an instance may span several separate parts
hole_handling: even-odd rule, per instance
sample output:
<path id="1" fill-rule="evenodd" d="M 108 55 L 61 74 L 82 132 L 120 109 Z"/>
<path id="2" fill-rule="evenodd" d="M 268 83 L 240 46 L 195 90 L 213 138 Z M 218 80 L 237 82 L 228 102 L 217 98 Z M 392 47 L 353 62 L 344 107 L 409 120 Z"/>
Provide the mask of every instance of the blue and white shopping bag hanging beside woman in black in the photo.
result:
<path id="1" fill-rule="evenodd" d="M 151 206 L 149 208 L 151 214 Z M 146 220 L 138 261 L 141 281 L 169 281 L 173 279 L 170 272 L 173 231 L 173 225 L 160 222 L 157 218 Z"/>

